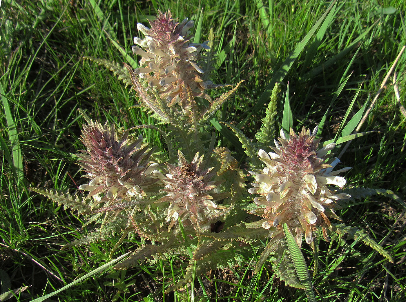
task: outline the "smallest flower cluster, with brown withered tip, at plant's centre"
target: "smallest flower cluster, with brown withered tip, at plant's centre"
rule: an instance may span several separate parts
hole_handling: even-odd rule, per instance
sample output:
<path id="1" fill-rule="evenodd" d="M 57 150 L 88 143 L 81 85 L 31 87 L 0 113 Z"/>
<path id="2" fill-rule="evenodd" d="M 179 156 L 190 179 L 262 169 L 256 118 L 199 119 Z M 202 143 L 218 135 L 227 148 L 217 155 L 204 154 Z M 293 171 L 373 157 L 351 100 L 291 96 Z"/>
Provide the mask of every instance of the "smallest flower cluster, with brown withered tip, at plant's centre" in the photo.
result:
<path id="1" fill-rule="evenodd" d="M 216 175 L 213 168 L 204 169 L 203 155 L 194 155 L 190 164 L 179 152 L 179 166 L 166 163 L 168 172 L 163 179 L 166 196 L 160 202 L 169 201 L 165 210 L 166 221 L 175 221 L 178 217 L 189 217 L 192 222 L 203 224 L 217 213 L 217 204 L 213 189 L 222 181 L 213 181 Z"/>

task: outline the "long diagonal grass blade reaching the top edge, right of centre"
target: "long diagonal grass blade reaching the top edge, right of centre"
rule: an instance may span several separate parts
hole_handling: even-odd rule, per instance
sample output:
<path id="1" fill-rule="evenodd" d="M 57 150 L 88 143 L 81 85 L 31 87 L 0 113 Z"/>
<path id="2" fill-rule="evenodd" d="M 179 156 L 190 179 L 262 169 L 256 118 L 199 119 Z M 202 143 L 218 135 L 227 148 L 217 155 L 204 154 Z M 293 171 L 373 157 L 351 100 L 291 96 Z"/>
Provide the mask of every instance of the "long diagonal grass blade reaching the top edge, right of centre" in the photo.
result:
<path id="1" fill-rule="evenodd" d="M 283 79 L 285 78 L 287 72 L 289 69 L 292 67 L 293 63 L 295 60 L 298 58 L 300 53 L 304 50 L 304 47 L 306 47 L 307 43 L 309 43 L 311 37 L 314 35 L 315 31 L 317 28 L 320 26 L 320 24 L 324 21 L 330 10 L 333 8 L 337 0 L 333 1 L 330 6 L 328 6 L 327 10 L 324 12 L 324 14 L 320 17 L 320 19 L 317 20 L 316 24 L 313 25 L 311 30 L 307 33 L 307 35 L 304 36 L 302 41 L 296 45 L 294 51 L 289 55 L 289 57 L 283 62 L 282 66 L 276 71 L 274 76 L 272 77 L 270 83 L 268 86 L 266 86 L 265 91 L 262 93 L 261 97 L 259 97 L 259 100 L 257 101 L 257 104 L 255 104 L 253 110 L 251 110 L 251 114 L 254 112 L 258 111 L 270 98 L 272 89 L 275 86 L 276 82 L 282 82 Z"/>

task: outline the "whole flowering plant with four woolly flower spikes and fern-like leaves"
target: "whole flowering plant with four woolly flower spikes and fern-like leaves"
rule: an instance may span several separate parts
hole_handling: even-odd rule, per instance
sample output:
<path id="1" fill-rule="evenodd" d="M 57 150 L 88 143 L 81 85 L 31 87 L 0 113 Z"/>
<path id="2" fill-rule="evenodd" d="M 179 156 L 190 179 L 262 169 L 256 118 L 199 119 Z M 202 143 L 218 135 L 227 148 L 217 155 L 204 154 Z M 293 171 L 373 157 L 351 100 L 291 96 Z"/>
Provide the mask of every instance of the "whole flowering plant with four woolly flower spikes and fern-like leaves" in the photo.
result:
<path id="1" fill-rule="evenodd" d="M 153 147 L 143 144 L 142 136 L 117 133 L 114 125 L 102 125 L 83 114 L 85 150 L 79 151 L 78 164 L 90 181 L 79 189 L 89 193 L 33 189 L 98 225 L 86 238 L 67 246 L 119 234 L 110 255 L 127 236 L 139 236 L 144 244 L 117 267 L 155 262 L 174 254 L 189 257 L 185 276 L 175 276 L 176 285 L 168 291 L 209 268 L 241 264 L 241 255 L 251 253 L 252 246 L 262 247 L 262 242 L 267 244 L 257 270 L 269 260 L 276 276 L 300 288 L 292 246 L 300 248 L 303 237 L 316 252 L 320 238 L 361 236 L 365 244 L 392 261 L 361 228 L 337 223 L 341 221 L 338 209 L 376 192 L 345 188 L 346 180 L 339 174 L 350 168 L 333 170 L 340 163 L 332 153 L 336 143 L 322 144 L 314 125 L 313 130 L 303 127 L 298 134 L 292 128 L 281 129 L 280 137 L 274 139 L 277 86 L 257 141 L 224 123 L 242 143 L 248 169 L 242 170 L 231 151 L 218 146 L 207 121 L 241 83 L 217 99 L 209 97 L 209 89 L 225 86 L 207 79 L 203 65 L 209 62 L 203 50 L 209 47 L 207 42 L 191 42 L 193 27 L 188 19 L 177 22 L 170 11 L 159 12 L 150 28 L 138 24 L 144 37 L 134 38 L 132 50 L 139 59 L 136 69 L 126 63 L 121 67 L 88 58 L 131 85 L 139 104 L 160 125 L 166 124 L 162 129 L 159 125 L 139 128 L 160 132 L 167 152 L 158 156 Z M 246 188 L 248 181 L 252 185 Z M 214 227 L 216 223 L 222 224 L 221 231 Z M 287 233 L 293 235 L 293 245 Z"/>

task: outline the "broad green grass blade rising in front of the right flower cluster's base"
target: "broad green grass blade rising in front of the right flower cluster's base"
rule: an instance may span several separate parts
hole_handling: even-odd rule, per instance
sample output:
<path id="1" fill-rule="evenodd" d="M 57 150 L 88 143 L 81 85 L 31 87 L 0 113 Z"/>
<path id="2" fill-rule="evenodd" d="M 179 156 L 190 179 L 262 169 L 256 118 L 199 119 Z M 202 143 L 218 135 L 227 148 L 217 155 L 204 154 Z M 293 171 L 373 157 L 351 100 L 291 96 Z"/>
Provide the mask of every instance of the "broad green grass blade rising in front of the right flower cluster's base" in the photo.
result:
<path id="1" fill-rule="evenodd" d="M 283 233 L 285 233 L 287 247 L 289 248 L 289 253 L 292 257 L 293 265 L 295 266 L 300 283 L 306 287 L 306 296 L 310 302 L 315 302 L 316 297 L 314 295 L 313 285 L 311 284 L 311 278 L 309 270 L 307 269 L 306 261 L 304 260 L 303 254 L 286 223 L 283 224 Z"/>

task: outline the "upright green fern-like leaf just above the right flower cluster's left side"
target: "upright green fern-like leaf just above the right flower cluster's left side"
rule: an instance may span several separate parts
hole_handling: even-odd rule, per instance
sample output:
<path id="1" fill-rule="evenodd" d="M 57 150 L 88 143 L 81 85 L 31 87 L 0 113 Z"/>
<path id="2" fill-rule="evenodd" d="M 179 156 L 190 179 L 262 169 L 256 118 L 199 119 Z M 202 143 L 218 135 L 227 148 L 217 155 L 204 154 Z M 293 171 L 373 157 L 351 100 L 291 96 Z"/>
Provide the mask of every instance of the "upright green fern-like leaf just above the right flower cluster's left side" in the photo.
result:
<path id="1" fill-rule="evenodd" d="M 278 91 L 279 85 L 275 84 L 274 89 L 272 90 L 271 99 L 266 109 L 265 117 L 261 120 L 262 127 L 259 129 L 259 132 L 255 134 L 258 142 L 263 144 L 266 147 L 269 147 L 275 136 L 275 120 L 274 116 L 276 114 L 276 93 Z"/>

